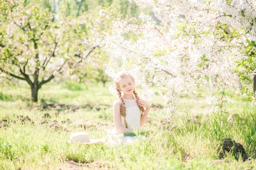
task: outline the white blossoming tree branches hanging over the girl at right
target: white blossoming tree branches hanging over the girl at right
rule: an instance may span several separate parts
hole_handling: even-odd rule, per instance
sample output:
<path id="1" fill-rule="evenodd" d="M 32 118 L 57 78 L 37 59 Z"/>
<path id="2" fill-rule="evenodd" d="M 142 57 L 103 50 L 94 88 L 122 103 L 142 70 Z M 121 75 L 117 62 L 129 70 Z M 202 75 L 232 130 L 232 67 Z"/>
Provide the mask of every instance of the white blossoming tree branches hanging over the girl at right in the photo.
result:
<path id="1" fill-rule="evenodd" d="M 256 1 L 205 0 L 134 0 L 138 6 L 152 6 L 160 20 L 151 16 L 123 17 L 108 10 L 113 21 L 113 34 L 105 37 L 109 51 L 123 59 L 122 70 L 130 71 L 143 85 L 144 98 L 154 97 L 154 81 L 165 98 L 167 113 L 175 113 L 179 96 L 188 93 L 198 99 L 196 88 L 209 91 L 207 113 L 223 111 L 230 96 L 255 94 L 240 86 L 240 79 L 251 79 L 255 67 Z M 139 34 L 133 44 L 123 37 L 128 32 Z M 251 60 L 250 60 L 251 59 Z M 247 63 L 247 64 L 246 64 Z M 116 71 L 108 69 L 114 76 Z M 216 92 L 221 89 L 223 93 Z"/>

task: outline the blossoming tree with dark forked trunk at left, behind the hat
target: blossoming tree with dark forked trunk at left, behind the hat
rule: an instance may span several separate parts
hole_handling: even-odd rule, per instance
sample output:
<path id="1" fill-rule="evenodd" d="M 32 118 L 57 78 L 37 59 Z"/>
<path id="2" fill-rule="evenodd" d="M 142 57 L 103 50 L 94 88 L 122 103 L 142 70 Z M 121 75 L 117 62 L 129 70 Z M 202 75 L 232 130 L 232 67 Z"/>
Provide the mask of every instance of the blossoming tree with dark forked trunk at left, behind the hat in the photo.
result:
<path id="1" fill-rule="evenodd" d="M 49 8 L 42 10 L 40 4 L 38 0 L 27 5 L 24 0 L 0 0 L 0 73 L 26 81 L 34 102 L 42 85 L 69 74 L 70 69 L 85 67 L 84 59 L 101 47 L 93 46 L 95 35 L 90 29 L 109 26 L 99 10 L 72 18 L 60 8 L 54 20 Z"/>

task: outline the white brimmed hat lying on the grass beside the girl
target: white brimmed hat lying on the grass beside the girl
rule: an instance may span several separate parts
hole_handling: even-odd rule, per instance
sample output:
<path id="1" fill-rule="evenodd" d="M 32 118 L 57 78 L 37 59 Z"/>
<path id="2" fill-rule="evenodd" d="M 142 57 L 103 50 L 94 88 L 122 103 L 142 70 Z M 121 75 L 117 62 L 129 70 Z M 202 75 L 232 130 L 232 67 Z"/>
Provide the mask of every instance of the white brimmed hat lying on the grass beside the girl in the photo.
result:
<path id="1" fill-rule="evenodd" d="M 77 132 L 70 135 L 70 142 L 77 142 L 80 144 L 97 144 L 104 143 L 105 139 L 90 139 L 90 135 L 85 132 Z"/>

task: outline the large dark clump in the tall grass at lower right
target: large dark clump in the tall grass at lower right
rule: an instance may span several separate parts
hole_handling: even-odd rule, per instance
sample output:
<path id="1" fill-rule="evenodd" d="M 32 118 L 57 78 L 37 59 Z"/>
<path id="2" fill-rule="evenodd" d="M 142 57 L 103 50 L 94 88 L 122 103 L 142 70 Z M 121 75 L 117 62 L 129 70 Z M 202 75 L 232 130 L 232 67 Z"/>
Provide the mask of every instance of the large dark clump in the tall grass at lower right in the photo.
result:
<path id="1" fill-rule="evenodd" d="M 248 155 L 244 150 L 243 145 L 236 143 L 236 141 L 225 138 L 223 139 L 221 146 L 219 147 L 219 159 L 223 159 L 227 154 L 232 154 L 236 160 L 241 156 L 243 161 L 248 159 Z"/>

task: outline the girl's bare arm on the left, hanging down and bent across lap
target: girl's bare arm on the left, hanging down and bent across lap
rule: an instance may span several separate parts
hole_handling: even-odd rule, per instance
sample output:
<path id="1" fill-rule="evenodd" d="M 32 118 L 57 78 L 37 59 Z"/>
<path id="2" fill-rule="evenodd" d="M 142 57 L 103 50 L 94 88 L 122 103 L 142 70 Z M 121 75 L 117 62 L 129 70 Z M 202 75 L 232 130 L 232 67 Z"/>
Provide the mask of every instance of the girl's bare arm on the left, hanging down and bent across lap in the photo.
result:
<path id="1" fill-rule="evenodd" d="M 120 115 L 119 101 L 116 101 L 114 103 L 113 111 L 114 111 L 114 125 L 115 125 L 116 132 L 118 132 L 118 133 L 130 133 L 130 132 L 133 132 L 133 130 L 128 129 L 126 127 L 122 127 L 122 125 L 121 125 L 121 115 Z"/>

